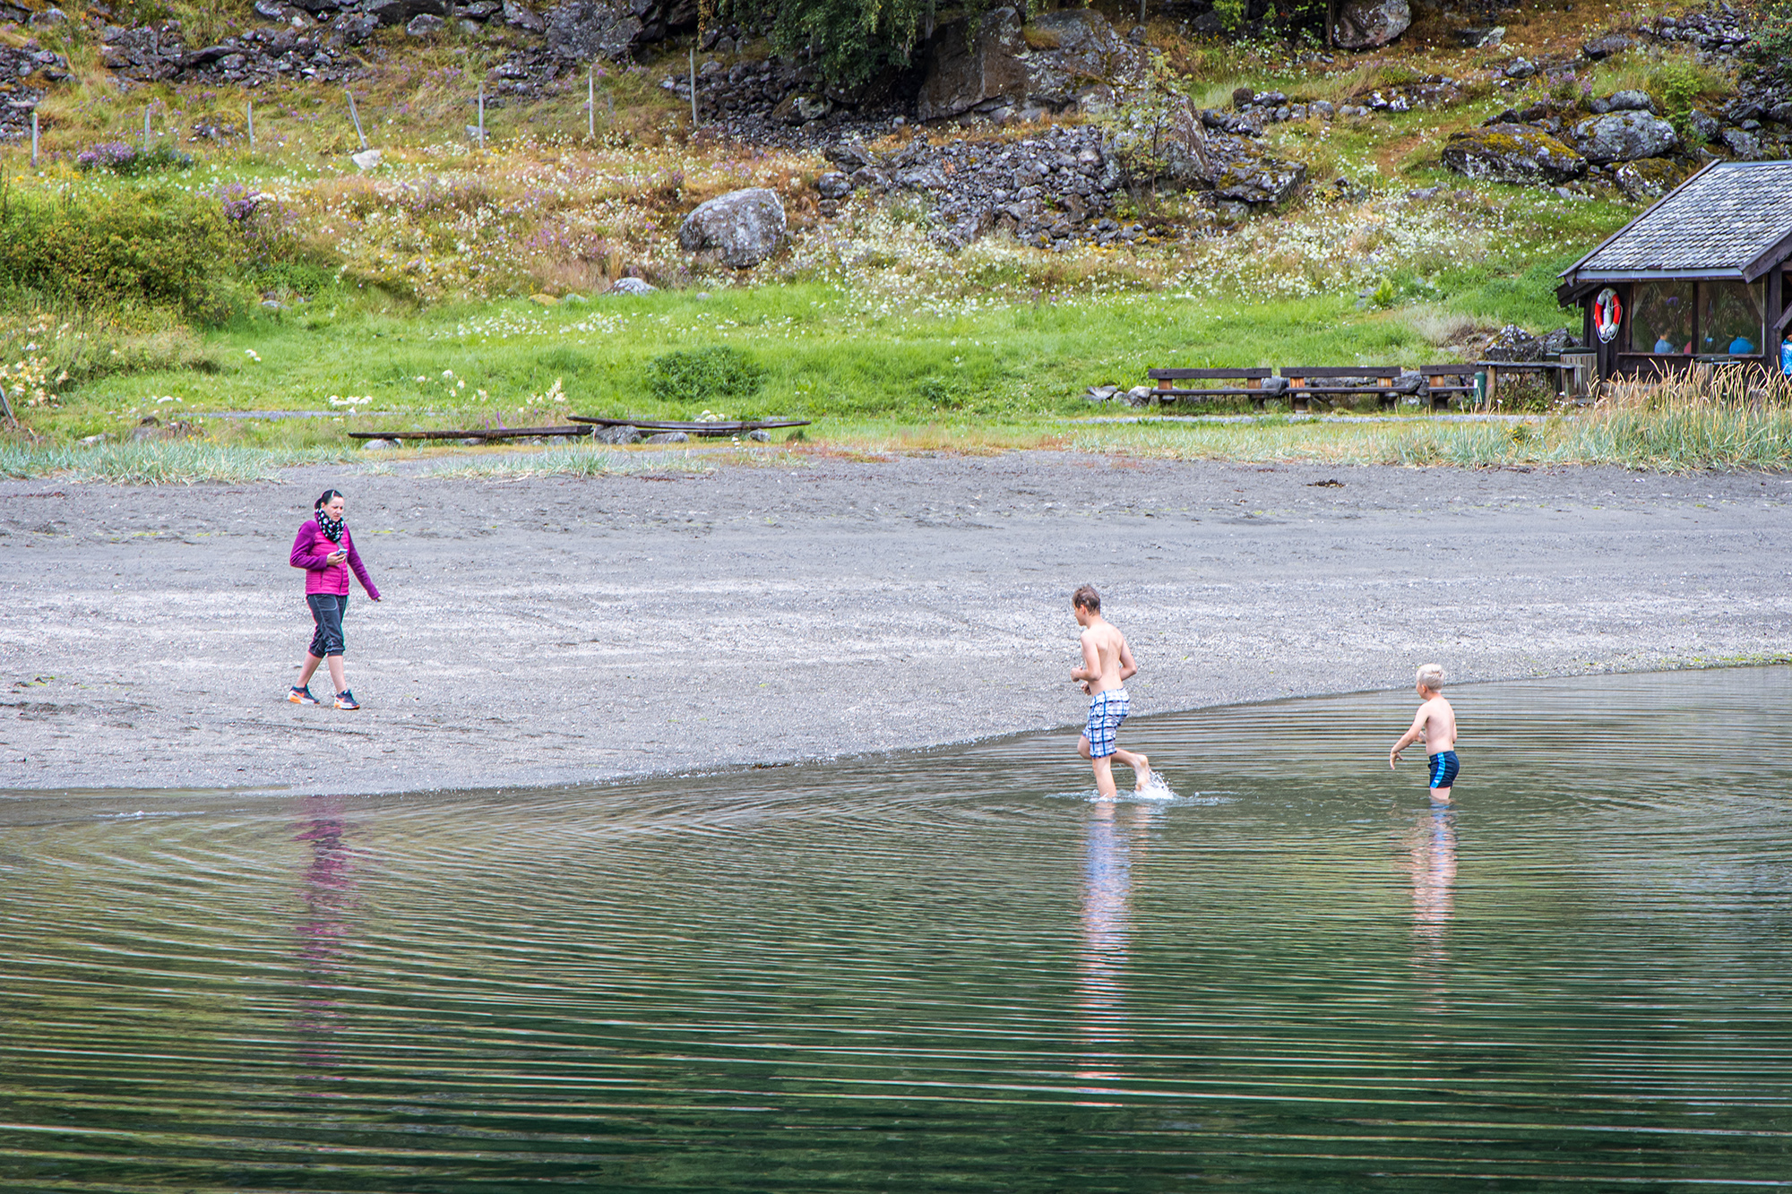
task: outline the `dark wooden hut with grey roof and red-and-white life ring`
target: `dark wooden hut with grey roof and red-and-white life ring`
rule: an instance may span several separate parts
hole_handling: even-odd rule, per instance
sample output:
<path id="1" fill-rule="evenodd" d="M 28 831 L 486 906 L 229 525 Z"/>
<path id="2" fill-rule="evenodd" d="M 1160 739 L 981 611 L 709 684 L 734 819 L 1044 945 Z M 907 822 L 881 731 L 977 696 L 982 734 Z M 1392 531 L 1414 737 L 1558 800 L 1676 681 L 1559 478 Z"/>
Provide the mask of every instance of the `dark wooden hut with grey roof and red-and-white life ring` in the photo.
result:
<path id="1" fill-rule="evenodd" d="M 1713 161 L 1561 274 L 1598 375 L 1779 368 L 1792 324 L 1792 161 Z"/>

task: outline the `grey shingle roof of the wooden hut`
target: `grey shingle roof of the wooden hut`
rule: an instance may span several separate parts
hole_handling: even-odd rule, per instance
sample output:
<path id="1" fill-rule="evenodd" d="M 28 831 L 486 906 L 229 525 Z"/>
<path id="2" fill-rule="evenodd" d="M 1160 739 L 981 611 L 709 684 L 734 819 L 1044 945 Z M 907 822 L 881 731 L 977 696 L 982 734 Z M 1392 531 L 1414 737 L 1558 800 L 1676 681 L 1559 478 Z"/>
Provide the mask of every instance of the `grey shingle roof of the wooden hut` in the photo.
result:
<path id="1" fill-rule="evenodd" d="M 1742 271 L 1788 235 L 1792 161 L 1719 161 L 1563 271 L 1563 278 Z"/>

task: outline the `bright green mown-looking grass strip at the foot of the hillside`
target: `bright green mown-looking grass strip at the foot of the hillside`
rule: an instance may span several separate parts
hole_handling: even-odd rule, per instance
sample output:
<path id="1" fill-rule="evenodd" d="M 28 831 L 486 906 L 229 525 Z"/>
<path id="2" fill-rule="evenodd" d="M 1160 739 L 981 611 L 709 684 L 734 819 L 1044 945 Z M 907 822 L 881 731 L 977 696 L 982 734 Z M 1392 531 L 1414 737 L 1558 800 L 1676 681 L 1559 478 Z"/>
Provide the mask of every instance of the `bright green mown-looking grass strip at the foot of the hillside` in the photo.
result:
<path id="1" fill-rule="evenodd" d="M 1487 305 L 1498 307 L 1500 296 Z M 1419 364 L 1437 355 L 1403 312 L 1355 310 L 1348 296 L 1240 307 L 1120 294 L 923 308 L 797 283 L 711 298 L 606 298 L 577 308 L 444 307 L 410 317 L 315 307 L 323 310 L 208 333 L 206 371 L 100 376 L 56 409 L 29 412 L 29 421 L 39 436 L 72 441 L 122 437 L 145 416 L 179 418 L 219 443 L 287 448 L 344 445 L 349 428 L 534 427 L 568 412 L 1007 423 L 1082 412 L 1088 385 L 1143 384 L 1152 366 Z M 763 369 L 751 398 L 656 394 L 656 359 L 713 346 Z M 324 418 L 197 418 L 204 411 Z"/>

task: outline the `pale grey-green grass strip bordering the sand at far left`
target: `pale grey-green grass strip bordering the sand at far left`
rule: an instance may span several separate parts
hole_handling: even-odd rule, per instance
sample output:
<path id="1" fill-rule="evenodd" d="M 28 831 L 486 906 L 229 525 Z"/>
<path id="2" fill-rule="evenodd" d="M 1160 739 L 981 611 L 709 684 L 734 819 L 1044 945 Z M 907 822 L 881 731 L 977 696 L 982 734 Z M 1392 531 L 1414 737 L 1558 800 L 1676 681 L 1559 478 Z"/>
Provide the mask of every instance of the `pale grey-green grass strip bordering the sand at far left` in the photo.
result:
<path id="1" fill-rule="evenodd" d="M 294 464 L 337 464 L 348 448 L 233 448 L 215 443 L 124 443 L 97 448 L 39 448 L 0 443 L 0 477 L 66 477 L 120 486 L 192 486 L 276 480 Z"/>

